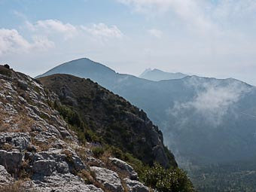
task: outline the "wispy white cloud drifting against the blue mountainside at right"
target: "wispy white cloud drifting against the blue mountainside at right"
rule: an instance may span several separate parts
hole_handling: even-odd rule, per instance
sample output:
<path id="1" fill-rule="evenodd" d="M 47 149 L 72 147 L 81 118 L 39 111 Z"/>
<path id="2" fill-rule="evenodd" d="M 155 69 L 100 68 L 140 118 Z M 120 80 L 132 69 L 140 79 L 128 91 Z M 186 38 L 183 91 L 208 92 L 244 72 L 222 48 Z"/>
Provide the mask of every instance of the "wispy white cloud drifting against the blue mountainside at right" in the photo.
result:
<path id="1" fill-rule="evenodd" d="M 190 78 L 187 87 L 194 88 L 194 97 L 189 101 L 175 102 L 173 108 L 168 110 L 169 115 L 175 118 L 176 123 L 182 124 L 189 123 L 188 120 L 192 120 L 189 117 L 195 114 L 210 126 L 220 125 L 225 115 L 236 108 L 236 102 L 251 90 L 251 87 L 240 81 L 226 80 L 225 84 L 219 84 L 217 81 L 200 84 L 194 78 Z"/>

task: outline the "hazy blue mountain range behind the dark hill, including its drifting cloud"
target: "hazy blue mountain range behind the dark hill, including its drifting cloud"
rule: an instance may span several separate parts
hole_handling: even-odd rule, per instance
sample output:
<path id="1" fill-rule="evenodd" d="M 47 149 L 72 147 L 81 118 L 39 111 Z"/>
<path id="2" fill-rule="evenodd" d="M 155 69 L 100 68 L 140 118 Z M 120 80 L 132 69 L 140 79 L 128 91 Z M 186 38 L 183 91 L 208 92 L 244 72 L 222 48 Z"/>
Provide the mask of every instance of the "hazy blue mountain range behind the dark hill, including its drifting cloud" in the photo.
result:
<path id="1" fill-rule="evenodd" d="M 148 81 L 90 59 L 66 62 L 38 77 L 56 73 L 90 78 L 142 108 L 163 131 L 178 163 L 202 165 L 256 156 L 256 89 L 242 81 L 197 76 Z"/>

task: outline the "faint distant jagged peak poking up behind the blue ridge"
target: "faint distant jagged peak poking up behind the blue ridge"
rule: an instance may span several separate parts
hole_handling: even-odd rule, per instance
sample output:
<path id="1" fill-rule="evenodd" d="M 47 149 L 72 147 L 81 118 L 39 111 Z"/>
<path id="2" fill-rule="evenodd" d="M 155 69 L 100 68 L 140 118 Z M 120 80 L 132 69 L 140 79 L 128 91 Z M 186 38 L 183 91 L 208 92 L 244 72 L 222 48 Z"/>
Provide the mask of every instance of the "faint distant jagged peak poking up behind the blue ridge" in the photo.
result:
<path id="1" fill-rule="evenodd" d="M 145 78 L 151 81 L 161 81 L 161 80 L 179 79 L 187 76 L 188 75 L 185 75 L 180 72 L 170 73 L 170 72 L 163 72 L 159 69 L 153 69 L 153 70 L 146 69 L 145 72 L 139 75 L 139 78 Z"/>

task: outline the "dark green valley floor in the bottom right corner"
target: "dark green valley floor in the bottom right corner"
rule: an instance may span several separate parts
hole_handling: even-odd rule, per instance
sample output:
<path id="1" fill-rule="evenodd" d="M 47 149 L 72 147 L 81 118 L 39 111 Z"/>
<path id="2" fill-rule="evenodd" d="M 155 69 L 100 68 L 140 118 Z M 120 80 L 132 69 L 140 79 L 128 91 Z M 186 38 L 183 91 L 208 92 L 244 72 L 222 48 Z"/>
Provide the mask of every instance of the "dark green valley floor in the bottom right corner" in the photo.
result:
<path id="1" fill-rule="evenodd" d="M 188 169 L 191 181 L 199 191 L 255 190 L 256 163 L 254 159 Z"/>

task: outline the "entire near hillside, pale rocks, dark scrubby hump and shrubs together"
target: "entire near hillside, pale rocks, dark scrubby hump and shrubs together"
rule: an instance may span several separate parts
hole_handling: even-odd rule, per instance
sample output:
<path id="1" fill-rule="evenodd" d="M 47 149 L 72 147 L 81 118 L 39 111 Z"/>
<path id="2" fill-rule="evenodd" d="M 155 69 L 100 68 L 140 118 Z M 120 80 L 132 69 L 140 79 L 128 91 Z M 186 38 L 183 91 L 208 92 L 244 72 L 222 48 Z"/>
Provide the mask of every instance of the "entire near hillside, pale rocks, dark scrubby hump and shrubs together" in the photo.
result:
<path id="1" fill-rule="evenodd" d="M 90 80 L 40 81 L 0 66 L 0 191 L 194 191 L 139 108 Z"/>

